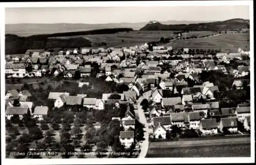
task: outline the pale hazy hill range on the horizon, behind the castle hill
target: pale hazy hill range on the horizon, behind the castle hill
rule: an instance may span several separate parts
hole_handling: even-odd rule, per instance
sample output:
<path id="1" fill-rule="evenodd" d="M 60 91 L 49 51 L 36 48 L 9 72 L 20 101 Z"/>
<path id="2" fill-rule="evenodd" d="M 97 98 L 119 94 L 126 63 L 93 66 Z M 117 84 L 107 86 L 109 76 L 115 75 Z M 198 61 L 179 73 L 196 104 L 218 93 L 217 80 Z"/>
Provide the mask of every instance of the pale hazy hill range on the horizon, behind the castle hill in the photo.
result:
<path id="1" fill-rule="evenodd" d="M 203 23 L 205 21 L 176 21 L 168 20 L 162 21 L 162 24 L 189 24 L 189 23 Z M 52 34 L 52 33 L 65 33 L 77 31 L 90 31 L 99 29 L 110 28 L 132 28 L 139 30 L 148 22 L 120 22 L 120 23 L 102 23 L 102 24 L 86 24 L 86 23 L 53 23 L 53 24 L 40 24 L 40 23 L 21 23 L 21 24 L 6 24 L 6 34 L 14 34 L 22 37 L 38 34 Z"/>

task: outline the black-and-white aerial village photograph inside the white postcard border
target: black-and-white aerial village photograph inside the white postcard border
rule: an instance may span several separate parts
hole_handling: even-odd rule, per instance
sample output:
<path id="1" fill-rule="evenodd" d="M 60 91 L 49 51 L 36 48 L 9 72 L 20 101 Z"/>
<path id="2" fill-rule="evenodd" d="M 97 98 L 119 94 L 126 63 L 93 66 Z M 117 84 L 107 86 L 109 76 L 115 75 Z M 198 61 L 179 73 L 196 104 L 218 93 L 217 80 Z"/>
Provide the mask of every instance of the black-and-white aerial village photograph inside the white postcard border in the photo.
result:
<path id="1" fill-rule="evenodd" d="M 4 49 L 7 159 L 251 156 L 248 6 L 5 8 Z"/>

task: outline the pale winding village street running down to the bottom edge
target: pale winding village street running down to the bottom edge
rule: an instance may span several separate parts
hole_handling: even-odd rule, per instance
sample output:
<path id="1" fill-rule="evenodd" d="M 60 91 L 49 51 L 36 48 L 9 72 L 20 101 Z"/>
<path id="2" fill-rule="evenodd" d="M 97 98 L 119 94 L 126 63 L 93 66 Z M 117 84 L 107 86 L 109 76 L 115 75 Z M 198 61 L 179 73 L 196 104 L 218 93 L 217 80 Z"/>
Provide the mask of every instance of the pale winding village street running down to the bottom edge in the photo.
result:
<path id="1" fill-rule="evenodd" d="M 144 158 L 146 156 L 146 153 L 147 153 L 147 150 L 148 150 L 148 132 L 149 132 L 149 129 L 148 129 L 148 124 L 147 124 L 147 121 L 146 121 L 146 117 L 144 115 L 144 112 L 143 112 L 143 109 L 142 109 L 142 106 L 140 105 L 140 102 L 143 100 L 143 99 L 148 99 L 151 95 L 151 90 L 150 91 L 147 91 L 145 92 L 138 100 L 137 100 L 137 103 L 138 103 L 138 116 L 139 116 L 139 122 L 144 124 L 144 141 L 142 141 L 141 143 L 141 151 L 140 151 L 140 155 L 139 155 L 139 158 Z"/>

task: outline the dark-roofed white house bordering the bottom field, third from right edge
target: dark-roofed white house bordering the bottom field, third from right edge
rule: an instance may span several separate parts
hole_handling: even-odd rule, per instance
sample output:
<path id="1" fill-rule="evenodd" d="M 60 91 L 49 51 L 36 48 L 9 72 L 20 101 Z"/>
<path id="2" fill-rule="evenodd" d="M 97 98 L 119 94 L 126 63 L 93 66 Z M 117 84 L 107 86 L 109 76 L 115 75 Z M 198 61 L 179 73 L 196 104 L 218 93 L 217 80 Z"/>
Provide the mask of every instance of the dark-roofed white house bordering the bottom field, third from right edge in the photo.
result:
<path id="1" fill-rule="evenodd" d="M 202 119 L 199 130 L 202 132 L 201 136 L 214 135 L 218 133 L 218 123 L 214 118 Z"/>

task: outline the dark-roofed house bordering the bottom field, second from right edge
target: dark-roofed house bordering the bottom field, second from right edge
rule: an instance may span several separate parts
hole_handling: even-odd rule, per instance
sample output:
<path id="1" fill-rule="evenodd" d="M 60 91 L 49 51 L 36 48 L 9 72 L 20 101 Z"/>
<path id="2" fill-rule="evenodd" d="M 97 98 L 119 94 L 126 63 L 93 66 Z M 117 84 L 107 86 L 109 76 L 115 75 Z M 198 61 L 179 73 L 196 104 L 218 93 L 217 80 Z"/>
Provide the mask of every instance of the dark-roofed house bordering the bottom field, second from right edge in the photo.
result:
<path id="1" fill-rule="evenodd" d="M 224 132 L 228 131 L 229 133 L 237 133 L 238 132 L 238 122 L 237 118 L 221 118 L 219 123 L 220 131 Z"/>

